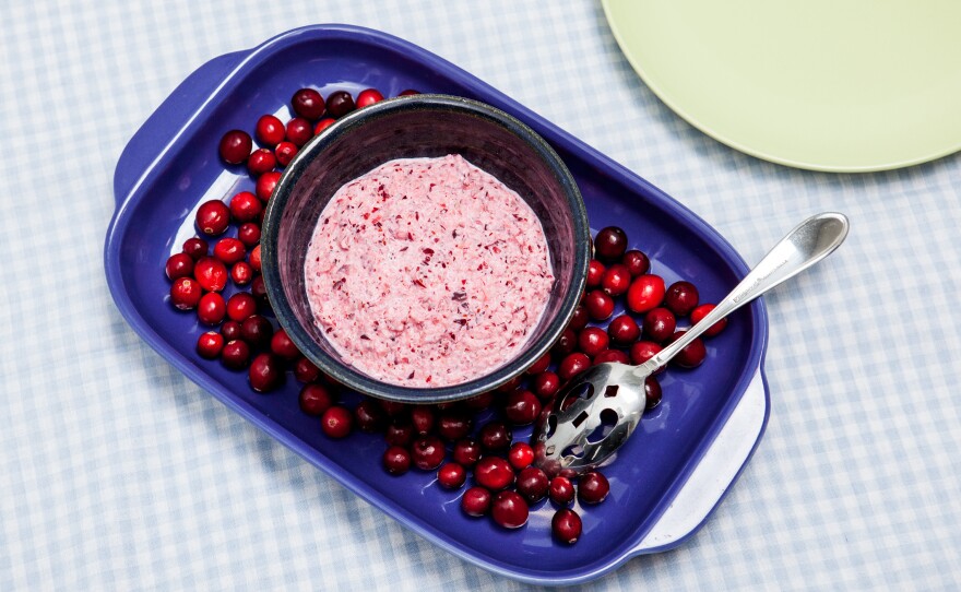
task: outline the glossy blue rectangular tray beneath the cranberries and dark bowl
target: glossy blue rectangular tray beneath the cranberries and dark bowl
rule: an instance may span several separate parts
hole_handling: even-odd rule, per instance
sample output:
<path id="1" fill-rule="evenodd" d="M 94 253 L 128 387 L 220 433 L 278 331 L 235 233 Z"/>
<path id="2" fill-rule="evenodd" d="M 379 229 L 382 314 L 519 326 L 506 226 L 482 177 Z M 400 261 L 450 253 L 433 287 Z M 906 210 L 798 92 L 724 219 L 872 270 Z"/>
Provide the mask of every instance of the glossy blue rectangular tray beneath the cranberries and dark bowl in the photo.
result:
<path id="1" fill-rule="evenodd" d="M 117 211 L 105 248 L 108 284 L 121 313 L 152 347 L 227 406 L 460 557 L 523 581 L 562 584 L 596 578 L 637 554 L 634 547 L 684 486 L 760 367 L 767 343 L 763 304 L 734 313 L 728 329 L 708 342 L 703 366 L 663 376 L 663 403 L 605 469 L 608 499 L 579 508 L 580 543 L 568 547 L 551 540 L 550 502 L 535 505 L 527 525 L 514 532 L 467 518 L 460 510 L 463 489 L 443 490 L 431 485 L 434 474 L 416 471 L 389 476 L 380 466 L 381 436 L 355 434 L 348 446 L 325 438 L 318 419 L 299 411 L 299 386 L 292 377 L 281 391 L 257 394 L 246 372 L 199 358 L 194 344 L 206 328 L 193 312 L 178 312 L 167 301 L 164 262 L 194 236 L 195 208 L 253 186 L 242 169 L 225 171 L 217 157 L 220 138 L 233 128 L 252 131 L 264 113 L 286 114 L 301 86 L 324 95 L 373 86 L 394 96 L 417 88 L 499 107 L 541 133 L 565 159 L 592 228 L 624 227 L 631 247 L 648 252 L 653 271 L 668 283 L 692 281 L 702 301 L 716 301 L 747 272 L 731 246 L 695 214 L 467 72 L 379 32 L 317 25 L 207 62 L 131 139 L 117 165 Z M 529 435 L 530 429 L 519 430 L 515 438 Z"/>

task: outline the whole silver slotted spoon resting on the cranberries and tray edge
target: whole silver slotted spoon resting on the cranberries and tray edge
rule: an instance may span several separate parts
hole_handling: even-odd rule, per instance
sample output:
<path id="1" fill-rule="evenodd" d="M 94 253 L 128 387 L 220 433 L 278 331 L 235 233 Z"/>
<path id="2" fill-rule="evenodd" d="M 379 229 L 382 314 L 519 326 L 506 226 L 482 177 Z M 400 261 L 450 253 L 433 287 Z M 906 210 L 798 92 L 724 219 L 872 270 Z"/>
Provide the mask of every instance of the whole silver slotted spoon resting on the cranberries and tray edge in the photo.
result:
<path id="1" fill-rule="evenodd" d="M 580 474 L 603 464 L 640 423 L 648 376 L 722 318 L 831 254 L 844 241 L 847 228 L 847 218 L 839 213 L 807 218 L 787 233 L 714 310 L 657 355 L 640 366 L 598 364 L 573 377 L 538 419 L 534 431 L 537 466 L 555 475 Z M 571 396 L 577 400 L 561 411 L 565 400 Z M 602 426 L 610 427 L 591 441 Z"/>

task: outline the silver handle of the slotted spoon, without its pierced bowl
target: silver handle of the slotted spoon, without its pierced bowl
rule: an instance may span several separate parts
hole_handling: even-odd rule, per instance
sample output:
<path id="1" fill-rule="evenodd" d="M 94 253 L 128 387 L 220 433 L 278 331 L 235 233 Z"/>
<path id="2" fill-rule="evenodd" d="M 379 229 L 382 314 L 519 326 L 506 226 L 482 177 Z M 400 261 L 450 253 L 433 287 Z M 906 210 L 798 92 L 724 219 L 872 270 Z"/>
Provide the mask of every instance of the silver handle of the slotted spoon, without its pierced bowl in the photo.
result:
<path id="1" fill-rule="evenodd" d="M 768 251 L 768 254 L 714 307 L 714 310 L 685 331 L 677 341 L 645 362 L 639 370 L 643 368 L 643 371 L 653 371 L 664 366 L 712 324 L 831 254 L 844 241 L 847 228 L 847 217 L 837 212 L 816 214 L 795 226 Z"/>

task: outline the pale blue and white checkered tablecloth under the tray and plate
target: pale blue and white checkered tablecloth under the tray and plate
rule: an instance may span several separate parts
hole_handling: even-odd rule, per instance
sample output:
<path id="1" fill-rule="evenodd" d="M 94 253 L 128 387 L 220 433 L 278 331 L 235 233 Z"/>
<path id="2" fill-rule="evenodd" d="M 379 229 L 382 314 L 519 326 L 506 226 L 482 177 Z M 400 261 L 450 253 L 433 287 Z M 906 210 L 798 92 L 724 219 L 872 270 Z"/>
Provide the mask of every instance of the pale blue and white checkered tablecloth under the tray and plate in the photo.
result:
<path id="1" fill-rule="evenodd" d="M 0 590 L 515 590 L 232 413 L 115 308 L 102 249 L 133 131 L 207 59 L 309 23 L 443 56 L 638 171 L 749 262 L 808 214 L 847 242 L 768 297 L 771 419 L 697 536 L 601 590 L 961 588 L 961 156 L 793 170 L 661 104 L 593 1 L 4 3 Z"/>

